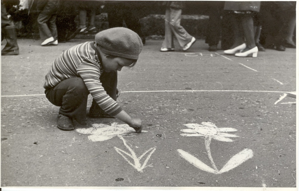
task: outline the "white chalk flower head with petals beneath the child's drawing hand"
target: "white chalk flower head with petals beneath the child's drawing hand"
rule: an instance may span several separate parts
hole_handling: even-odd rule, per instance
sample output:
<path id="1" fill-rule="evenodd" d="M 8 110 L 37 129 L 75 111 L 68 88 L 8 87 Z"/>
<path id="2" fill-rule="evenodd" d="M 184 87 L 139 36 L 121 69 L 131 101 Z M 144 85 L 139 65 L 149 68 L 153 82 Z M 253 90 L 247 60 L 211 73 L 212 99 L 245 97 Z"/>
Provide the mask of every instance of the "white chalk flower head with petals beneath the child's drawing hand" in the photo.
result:
<path id="1" fill-rule="evenodd" d="M 112 123 L 110 125 L 106 124 L 92 124 L 91 128 L 76 129 L 77 132 L 83 134 L 91 134 L 88 136 L 89 140 L 104 141 L 109 140 L 117 135 L 123 135 L 125 137 L 135 136 L 135 130 L 127 124 Z M 147 131 L 142 131 L 147 132 Z"/>

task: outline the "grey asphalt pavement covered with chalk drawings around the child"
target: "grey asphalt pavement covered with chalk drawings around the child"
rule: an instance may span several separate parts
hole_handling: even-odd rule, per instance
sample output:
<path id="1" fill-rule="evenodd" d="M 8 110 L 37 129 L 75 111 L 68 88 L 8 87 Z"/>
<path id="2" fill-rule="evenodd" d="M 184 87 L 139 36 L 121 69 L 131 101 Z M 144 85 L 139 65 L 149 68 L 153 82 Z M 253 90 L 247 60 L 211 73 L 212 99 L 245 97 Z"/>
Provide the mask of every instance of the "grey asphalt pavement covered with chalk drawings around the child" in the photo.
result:
<path id="1" fill-rule="evenodd" d="M 18 39 L 20 54 L 1 56 L 2 188 L 297 190 L 295 49 L 243 58 L 209 52 L 204 40 L 174 52 L 147 40 L 136 66 L 118 72 L 117 101 L 143 132 L 91 118 L 61 131 L 45 74 L 86 41 Z"/>

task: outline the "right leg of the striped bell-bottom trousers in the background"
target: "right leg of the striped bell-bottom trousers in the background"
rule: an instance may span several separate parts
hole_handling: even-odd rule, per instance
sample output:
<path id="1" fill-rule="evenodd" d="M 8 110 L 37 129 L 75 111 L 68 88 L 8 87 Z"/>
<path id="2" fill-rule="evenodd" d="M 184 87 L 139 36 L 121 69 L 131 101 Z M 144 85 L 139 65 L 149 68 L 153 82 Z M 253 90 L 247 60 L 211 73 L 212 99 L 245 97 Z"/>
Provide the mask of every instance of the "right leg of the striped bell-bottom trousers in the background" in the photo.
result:
<path id="1" fill-rule="evenodd" d="M 179 42 L 179 45 L 184 47 L 191 41 L 192 36 L 181 26 L 181 14 L 181 9 L 170 8 L 171 30 L 176 40 Z"/>

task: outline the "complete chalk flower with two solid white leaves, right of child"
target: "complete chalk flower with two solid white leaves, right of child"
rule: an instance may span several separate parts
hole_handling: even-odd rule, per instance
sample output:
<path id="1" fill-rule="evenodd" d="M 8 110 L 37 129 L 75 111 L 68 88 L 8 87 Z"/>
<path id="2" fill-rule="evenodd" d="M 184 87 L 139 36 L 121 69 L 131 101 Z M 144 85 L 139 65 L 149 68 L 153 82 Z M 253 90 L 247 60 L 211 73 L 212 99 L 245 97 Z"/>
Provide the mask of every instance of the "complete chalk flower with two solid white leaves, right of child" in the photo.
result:
<path id="1" fill-rule="evenodd" d="M 230 139 L 232 137 L 239 137 L 237 135 L 225 133 L 225 132 L 235 132 L 237 129 L 234 128 L 218 128 L 214 123 L 211 122 L 202 122 L 202 124 L 197 124 L 197 123 L 189 123 L 185 124 L 190 129 L 181 129 L 182 136 L 185 137 L 205 137 L 205 147 L 207 150 L 208 157 L 211 161 L 211 164 L 213 168 L 210 166 L 204 164 L 202 161 L 199 161 L 197 158 L 194 156 L 190 155 L 189 153 L 178 149 L 177 151 L 180 153 L 180 155 L 186 159 L 188 162 L 196 166 L 197 168 L 204 170 L 206 172 L 211 172 L 214 174 L 221 174 L 223 172 L 227 172 L 243 162 L 247 161 L 249 158 L 253 157 L 253 152 L 251 149 L 244 149 L 238 154 L 234 155 L 223 167 L 222 169 L 218 170 L 212 155 L 211 155 L 211 150 L 210 150 L 210 143 L 212 138 L 215 140 L 219 141 L 224 141 L 224 142 L 233 142 L 234 140 Z M 230 137 L 230 138 L 228 138 Z"/>

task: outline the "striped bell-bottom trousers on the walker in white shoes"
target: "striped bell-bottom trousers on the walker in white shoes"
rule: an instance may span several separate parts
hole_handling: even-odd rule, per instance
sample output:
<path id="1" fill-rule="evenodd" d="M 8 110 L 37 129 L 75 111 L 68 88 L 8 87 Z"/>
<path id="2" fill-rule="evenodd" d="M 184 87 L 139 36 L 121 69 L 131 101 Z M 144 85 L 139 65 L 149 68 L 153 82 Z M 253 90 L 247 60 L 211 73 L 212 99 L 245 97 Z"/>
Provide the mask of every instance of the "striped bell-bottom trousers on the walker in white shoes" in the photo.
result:
<path id="1" fill-rule="evenodd" d="M 183 48 L 187 45 L 192 36 L 181 26 L 181 9 L 167 8 L 165 13 L 165 36 L 162 48 L 174 48 L 173 37 Z"/>

